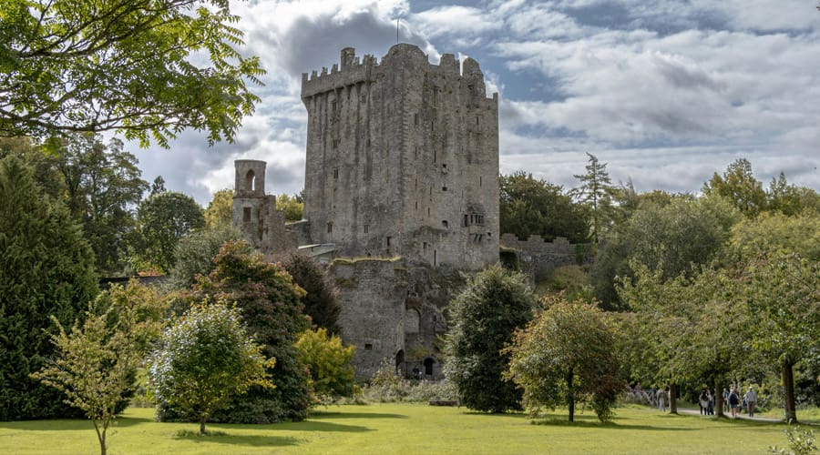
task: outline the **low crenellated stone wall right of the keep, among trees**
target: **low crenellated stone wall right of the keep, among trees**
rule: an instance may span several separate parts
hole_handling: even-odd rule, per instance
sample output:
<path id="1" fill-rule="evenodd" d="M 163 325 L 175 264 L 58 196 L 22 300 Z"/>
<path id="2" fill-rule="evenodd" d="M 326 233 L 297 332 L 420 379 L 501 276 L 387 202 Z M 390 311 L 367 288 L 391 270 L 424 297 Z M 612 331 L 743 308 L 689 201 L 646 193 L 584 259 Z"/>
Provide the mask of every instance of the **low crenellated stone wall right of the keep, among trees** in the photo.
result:
<path id="1" fill-rule="evenodd" d="M 548 242 L 541 236 L 520 240 L 515 234 L 501 236 L 501 256 L 505 262 L 516 262 L 528 278 L 537 282 L 553 269 L 572 264 L 589 264 L 592 251 L 589 244 L 571 244 L 567 238 Z"/>

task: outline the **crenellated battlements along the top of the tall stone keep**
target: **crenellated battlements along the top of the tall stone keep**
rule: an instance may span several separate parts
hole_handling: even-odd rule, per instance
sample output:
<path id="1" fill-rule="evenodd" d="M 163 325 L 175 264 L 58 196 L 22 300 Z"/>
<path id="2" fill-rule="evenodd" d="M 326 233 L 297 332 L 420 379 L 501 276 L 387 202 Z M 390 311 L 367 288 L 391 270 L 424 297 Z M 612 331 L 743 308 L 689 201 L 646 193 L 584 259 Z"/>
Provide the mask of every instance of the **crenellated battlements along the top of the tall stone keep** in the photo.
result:
<path id="1" fill-rule="evenodd" d="M 364 55 L 360 60 L 355 55 L 353 47 L 343 48 L 340 64 L 333 64 L 330 71 L 327 66 L 323 66 L 321 72 L 313 70 L 310 75 L 302 73 L 302 99 L 344 86 L 374 82 L 380 66 L 388 64 L 391 60 L 415 60 L 416 64 L 425 64 L 428 71 L 464 77 L 467 84 L 476 87 L 477 93 L 487 96 L 484 74 L 476 60 L 467 57 L 462 65 L 453 54 L 442 54 L 439 64 L 433 65 L 417 45 L 401 43 L 392 46 L 387 55 L 382 57 L 381 62 L 370 54 Z M 497 94 L 492 97 L 497 99 Z"/>

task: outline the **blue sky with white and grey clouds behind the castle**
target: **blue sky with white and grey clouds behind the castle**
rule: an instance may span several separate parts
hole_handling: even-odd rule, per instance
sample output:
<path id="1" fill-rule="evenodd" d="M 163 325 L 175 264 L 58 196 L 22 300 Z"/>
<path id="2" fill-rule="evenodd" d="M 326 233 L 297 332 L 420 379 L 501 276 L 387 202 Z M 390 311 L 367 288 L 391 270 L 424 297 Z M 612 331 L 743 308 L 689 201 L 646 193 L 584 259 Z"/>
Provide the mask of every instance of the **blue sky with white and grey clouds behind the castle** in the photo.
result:
<path id="1" fill-rule="evenodd" d="M 578 187 L 587 154 L 616 185 L 697 193 L 738 158 L 768 186 L 820 190 L 820 11 L 811 0 L 248 0 L 245 56 L 267 75 L 236 140 L 186 131 L 138 149 L 143 178 L 207 206 L 233 160 L 268 163 L 266 191 L 304 184 L 302 73 L 343 47 L 384 56 L 398 39 L 430 63 L 475 58 L 499 94 L 500 172 Z M 398 20 L 398 25 L 397 25 Z"/>

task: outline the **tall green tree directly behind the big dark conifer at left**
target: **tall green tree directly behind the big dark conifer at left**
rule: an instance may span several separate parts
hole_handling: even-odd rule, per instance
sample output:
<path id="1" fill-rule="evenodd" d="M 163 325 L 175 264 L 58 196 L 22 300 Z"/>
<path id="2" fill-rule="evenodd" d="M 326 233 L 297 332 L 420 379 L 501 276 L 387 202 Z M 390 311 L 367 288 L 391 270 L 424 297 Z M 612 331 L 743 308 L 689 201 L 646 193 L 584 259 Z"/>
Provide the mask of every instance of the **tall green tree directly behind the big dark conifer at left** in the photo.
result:
<path id="1" fill-rule="evenodd" d="M 134 227 L 132 207 L 148 188 L 137 157 L 123 150 L 122 141 L 114 138 L 106 145 L 92 134 L 67 135 L 53 146 L 68 209 L 83 225 L 97 270 L 116 273 L 124 266 L 124 238 Z"/>

